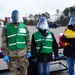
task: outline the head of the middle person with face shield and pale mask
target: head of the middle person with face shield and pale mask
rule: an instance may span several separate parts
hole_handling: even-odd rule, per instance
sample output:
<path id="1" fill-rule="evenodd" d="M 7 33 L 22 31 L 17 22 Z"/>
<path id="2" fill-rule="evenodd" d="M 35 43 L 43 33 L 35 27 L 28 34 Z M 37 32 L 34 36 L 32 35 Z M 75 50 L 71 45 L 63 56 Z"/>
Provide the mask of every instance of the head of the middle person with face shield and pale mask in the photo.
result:
<path id="1" fill-rule="evenodd" d="M 43 18 L 43 17 L 40 18 L 36 27 L 41 30 L 47 30 L 48 24 L 47 24 L 46 18 Z"/>

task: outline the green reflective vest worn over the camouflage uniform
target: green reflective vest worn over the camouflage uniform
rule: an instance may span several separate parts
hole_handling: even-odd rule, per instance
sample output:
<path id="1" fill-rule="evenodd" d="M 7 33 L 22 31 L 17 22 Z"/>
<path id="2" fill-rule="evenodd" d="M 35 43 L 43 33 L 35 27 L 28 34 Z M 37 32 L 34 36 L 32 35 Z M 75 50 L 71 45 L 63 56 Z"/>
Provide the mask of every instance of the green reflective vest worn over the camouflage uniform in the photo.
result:
<path id="1" fill-rule="evenodd" d="M 6 26 L 6 33 L 8 38 L 8 49 L 18 50 L 26 48 L 26 40 L 28 32 L 23 23 L 19 23 L 18 29 L 13 23 L 8 23 Z"/>

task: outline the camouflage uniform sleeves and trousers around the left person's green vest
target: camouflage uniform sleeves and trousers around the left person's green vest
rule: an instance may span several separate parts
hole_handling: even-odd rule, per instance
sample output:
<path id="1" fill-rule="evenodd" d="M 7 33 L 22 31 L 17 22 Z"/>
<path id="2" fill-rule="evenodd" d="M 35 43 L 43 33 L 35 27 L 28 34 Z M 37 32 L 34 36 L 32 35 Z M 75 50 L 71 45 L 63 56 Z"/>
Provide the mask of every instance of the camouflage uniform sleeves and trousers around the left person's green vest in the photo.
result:
<path id="1" fill-rule="evenodd" d="M 23 50 L 10 51 L 7 46 L 6 28 L 2 30 L 2 52 L 4 55 L 8 55 L 10 61 L 7 63 L 8 69 L 12 72 L 12 75 L 18 75 L 18 67 L 20 68 L 20 75 L 27 75 L 27 67 L 29 66 L 28 59 L 26 58 L 27 51 L 30 51 L 30 36 L 28 31 L 27 46 Z M 28 29 L 27 29 L 28 30 Z"/>

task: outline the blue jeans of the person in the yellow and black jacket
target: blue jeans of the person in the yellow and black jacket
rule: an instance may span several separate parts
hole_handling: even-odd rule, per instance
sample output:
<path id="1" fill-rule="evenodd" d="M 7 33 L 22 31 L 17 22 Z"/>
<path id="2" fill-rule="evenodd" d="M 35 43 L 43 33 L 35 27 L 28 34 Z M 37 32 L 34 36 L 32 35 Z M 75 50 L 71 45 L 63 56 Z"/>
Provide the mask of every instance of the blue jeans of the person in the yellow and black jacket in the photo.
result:
<path id="1" fill-rule="evenodd" d="M 67 57 L 69 75 L 74 75 L 74 62 L 75 58 Z"/>

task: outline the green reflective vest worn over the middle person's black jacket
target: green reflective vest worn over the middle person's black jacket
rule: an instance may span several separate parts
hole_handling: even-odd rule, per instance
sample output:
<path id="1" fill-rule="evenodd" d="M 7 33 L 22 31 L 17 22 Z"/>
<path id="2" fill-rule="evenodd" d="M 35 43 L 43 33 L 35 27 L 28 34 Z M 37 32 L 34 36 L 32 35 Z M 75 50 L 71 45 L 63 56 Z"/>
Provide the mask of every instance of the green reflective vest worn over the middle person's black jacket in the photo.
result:
<path id="1" fill-rule="evenodd" d="M 44 45 L 40 51 L 40 53 L 51 53 L 52 50 L 52 45 L 53 45 L 53 37 L 50 33 L 50 31 L 48 31 L 48 35 L 44 41 L 44 37 L 39 31 L 34 33 L 34 39 L 35 39 L 35 43 L 36 43 L 36 52 L 39 52 L 40 49 L 40 45 L 41 45 L 41 41 L 43 41 Z"/>

